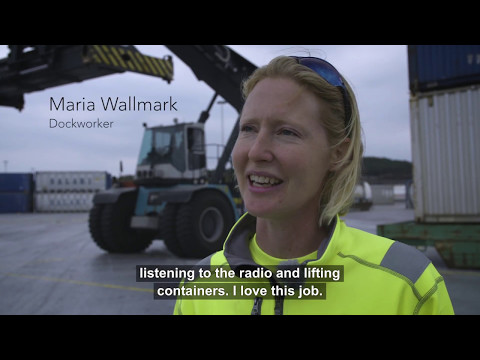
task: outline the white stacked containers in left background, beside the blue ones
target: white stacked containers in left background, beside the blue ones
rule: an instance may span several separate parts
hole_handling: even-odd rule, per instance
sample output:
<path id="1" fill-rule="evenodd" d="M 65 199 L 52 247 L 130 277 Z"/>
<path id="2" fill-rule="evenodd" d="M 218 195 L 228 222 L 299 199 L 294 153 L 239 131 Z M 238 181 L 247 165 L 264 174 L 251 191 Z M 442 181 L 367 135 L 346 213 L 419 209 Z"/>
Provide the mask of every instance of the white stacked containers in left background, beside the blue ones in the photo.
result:
<path id="1" fill-rule="evenodd" d="M 98 191 L 111 187 L 105 171 L 39 171 L 35 176 L 37 212 L 86 212 Z"/>

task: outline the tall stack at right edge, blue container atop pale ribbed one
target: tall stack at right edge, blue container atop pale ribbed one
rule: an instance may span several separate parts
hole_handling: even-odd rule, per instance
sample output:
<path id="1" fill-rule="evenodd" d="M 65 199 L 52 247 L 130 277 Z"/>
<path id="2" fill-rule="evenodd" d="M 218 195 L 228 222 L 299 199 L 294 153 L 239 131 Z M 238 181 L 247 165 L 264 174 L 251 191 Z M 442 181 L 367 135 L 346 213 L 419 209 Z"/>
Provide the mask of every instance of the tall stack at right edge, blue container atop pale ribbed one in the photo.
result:
<path id="1" fill-rule="evenodd" d="M 480 222 L 480 45 L 408 45 L 415 220 Z"/>

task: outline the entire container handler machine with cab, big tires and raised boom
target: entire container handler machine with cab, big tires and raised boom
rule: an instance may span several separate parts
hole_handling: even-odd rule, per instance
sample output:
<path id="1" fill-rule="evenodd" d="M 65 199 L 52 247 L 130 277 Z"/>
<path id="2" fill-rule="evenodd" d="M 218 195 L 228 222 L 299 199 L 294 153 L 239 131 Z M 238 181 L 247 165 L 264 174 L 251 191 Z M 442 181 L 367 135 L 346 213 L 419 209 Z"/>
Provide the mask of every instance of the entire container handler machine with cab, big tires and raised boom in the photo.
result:
<path id="1" fill-rule="evenodd" d="M 226 165 L 238 135 L 235 124 L 209 175 L 204 124 L 218 95 L 240 114 L 240 85 L 256 66 L 227 46 L 165 45 L 214 94 L 197 122 L 146 127 L 134 187 L 99 192 L 89 213 L 94 242 L 112 253 L 145 250 L 154 239 L 180 257 L 221 249 L 241 214 Z M 0 60 L 0 105 L 21 110 L 23 94 L 109 74 L 134 71 L 173 79 L 171 56 L 158 59 L 123 45 L 9 45 Z M 30 49 L 30 51 L 26 51 Z"/>

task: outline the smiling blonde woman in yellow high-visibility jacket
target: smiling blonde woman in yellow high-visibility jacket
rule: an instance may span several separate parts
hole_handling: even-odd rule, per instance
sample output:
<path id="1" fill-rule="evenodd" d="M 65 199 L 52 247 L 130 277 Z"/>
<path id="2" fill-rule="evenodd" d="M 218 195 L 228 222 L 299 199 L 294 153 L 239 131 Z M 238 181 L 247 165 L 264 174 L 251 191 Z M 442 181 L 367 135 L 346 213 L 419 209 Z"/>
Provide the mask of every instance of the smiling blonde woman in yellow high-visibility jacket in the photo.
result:
<path id="1" fill-rule="evenodd" d="M 363 147 L 355 96 L 338 71 L 322 59 L 280 56 L 243 93 L 232 160 L 247 213 L 224 249 L 200 263 L 231 270 L 237 282 L 211 298 L 178 298 L 174 312 L 453 314 L 443 278 L 421 252 L 340 219 Z"/>

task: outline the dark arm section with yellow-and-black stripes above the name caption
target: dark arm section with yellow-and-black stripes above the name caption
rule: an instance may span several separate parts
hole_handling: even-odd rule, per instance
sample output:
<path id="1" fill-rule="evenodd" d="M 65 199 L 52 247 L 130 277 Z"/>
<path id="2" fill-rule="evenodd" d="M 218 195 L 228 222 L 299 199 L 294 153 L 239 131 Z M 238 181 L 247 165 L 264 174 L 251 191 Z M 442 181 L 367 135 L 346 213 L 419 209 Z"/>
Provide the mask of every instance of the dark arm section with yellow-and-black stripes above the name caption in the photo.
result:
<path id="1" fill-rule="evenodd" d="M 25 93 L 133 71 L 173 77 L 171 57 L 141 54 L 132 45 L 9 45 L 0 59 L 0 106 L 22 110 Z"/>

